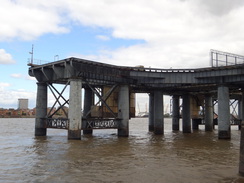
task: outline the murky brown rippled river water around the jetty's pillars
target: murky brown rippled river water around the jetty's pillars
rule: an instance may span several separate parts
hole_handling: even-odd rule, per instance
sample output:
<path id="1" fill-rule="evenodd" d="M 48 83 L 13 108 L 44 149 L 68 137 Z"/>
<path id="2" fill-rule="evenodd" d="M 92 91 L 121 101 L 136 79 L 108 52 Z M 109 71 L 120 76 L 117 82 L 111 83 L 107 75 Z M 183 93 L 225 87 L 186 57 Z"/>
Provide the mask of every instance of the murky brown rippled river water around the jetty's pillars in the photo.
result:
<path id="1" fill-rule="evenodd" d="M 48 129 L 34 137 L 34 119 L 0 119 L 0 182 L 146 182 L 240 183 L 240 131 L 218 140 L 217 129 L 191 134 L 148 132 L 148 119 L 130 120 L 130 136 L 94 130 L 81 140 L 67 140 L 66 130 Z"/>

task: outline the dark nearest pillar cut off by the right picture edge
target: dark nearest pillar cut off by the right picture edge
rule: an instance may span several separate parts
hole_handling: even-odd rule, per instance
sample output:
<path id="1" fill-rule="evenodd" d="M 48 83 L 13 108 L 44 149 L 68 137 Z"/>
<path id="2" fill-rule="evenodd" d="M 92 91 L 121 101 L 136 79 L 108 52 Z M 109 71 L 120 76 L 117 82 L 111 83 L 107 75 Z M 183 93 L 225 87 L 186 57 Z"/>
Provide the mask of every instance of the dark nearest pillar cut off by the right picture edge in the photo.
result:
<path id="1" fill-rule="evenodd" d="M 244 92 L 242 91 L 242 100 L 241 100 L 241 142 L 240 142 L 240 162 L 239 162 L 239 173 L 241 176 L 244 176 Z"/>

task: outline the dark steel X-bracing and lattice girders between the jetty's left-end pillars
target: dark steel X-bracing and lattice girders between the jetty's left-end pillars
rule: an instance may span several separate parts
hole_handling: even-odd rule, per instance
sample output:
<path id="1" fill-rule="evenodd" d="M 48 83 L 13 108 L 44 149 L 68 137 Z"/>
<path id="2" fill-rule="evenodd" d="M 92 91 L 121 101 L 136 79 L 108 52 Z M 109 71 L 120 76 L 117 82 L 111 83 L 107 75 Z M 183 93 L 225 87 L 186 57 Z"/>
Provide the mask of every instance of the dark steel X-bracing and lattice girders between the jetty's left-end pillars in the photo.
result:
<path id="1" fill-rule="evenodd" d="M 84 85 L 88 86 L 93 93 L 98 97 L 98 102 L 96 102 L 95 106 L 99 104 L 103 104 L 106 108 L 110 111 L 114 118 L 91 118 L 88 117 L 91 114 L 91 110 L 89 110 L 86 114 L 83 114 L 82 121 L 84 121 L 87 126 L 82 128 L 83 129 L 117 129 L 119 119 L 117 119 L 116 114 L 112 111 L 112 109 L 106 103 L 106 100 L 109 96 L 115 91 L 117 88 L 117 84 L 113 85 L 104 95 L 102 94 L 101 88 L 93 87 L 89 84 L 88 81 L 83 80 Z M 47 118 L 46 118 L 46 128 L 56 128 L 56 129 L 68 129 L 69 127 L 69 119 L 67 111 L 64 110 L 64 106 L 67 104 L 69 105 L 69 99 L 66 99 L 63 96 L 64 91 L 66 90 L 67 86 L 70 84 L 68 81 L 65 86 L 63 87 L 62 91 L 59 92 L 53 84 L 47 84 L 49 90 L 53 94 L 55 98 L 55 102 L 53 103 L 52 107 L 50 108 Z M 62 100 L 62 101 L 61 101 Z M 56 105 L 59 105 L 58 108 L 55 108 Z M 54 118 L 54 115 L 58 113 L 59 110 L 62 110 L 65 114 L 65 118 Z"/>

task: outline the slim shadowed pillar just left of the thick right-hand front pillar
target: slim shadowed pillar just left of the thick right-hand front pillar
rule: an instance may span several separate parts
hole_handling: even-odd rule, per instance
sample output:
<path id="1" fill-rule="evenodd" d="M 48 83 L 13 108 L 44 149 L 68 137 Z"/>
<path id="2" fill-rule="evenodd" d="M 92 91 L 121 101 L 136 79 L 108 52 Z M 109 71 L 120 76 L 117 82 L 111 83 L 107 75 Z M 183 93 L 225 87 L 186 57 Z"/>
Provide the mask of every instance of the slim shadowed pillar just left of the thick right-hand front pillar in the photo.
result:
<path id="1" fill-rule="evenodd" d="M 205 131 L 213 131 L 213 101 L 211 95 L 205 95 Z"/>

